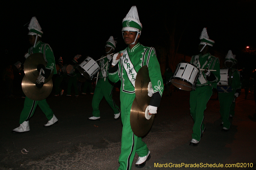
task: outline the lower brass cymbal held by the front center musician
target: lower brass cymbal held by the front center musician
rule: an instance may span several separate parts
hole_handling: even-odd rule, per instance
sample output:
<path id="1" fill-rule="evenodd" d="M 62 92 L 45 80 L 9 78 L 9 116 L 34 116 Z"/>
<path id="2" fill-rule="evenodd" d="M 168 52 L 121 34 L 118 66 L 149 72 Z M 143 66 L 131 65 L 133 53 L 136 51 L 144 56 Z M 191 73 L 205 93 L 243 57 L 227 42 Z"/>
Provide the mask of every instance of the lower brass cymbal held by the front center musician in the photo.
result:
<path id="1" fill-rule="evenodd" d="M 141 110 L 135 97 L 132 103 L 130 114 L 131 128 L 134 135 L 136 135 L 137 137 L 142 137 L 146 135 L 154 122 L 154 117 L 155 115 L 152 114 L 150 119 L 146 119 L 145 111 Z"/>

